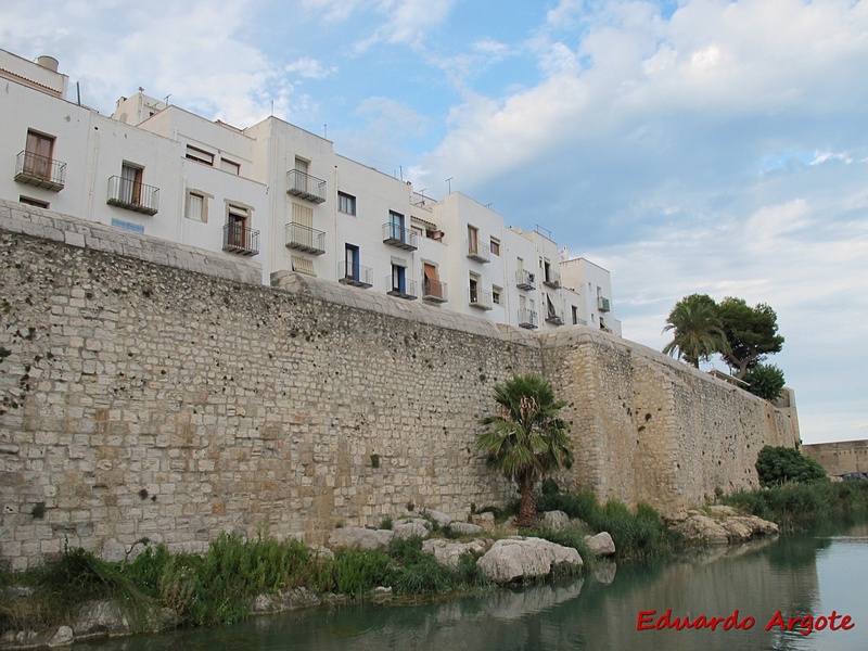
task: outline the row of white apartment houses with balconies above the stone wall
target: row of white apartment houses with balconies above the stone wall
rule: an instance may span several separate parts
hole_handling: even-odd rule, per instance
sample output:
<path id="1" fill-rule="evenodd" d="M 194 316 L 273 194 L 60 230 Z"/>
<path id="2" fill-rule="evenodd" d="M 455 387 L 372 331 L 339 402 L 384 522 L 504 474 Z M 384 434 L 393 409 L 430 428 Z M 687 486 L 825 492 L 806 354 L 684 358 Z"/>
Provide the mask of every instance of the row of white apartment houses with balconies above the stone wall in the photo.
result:
<path id="1" fill-rule="evenodd" d="M 460 192 L 434 201 L 276 117 L 240 129 L 141 90 L 102 116 L 65 99 L 51 58 L 0 50 L 0 79 L 3 199 L 246 256 L 264 283 L 293 270 L 499 323 L 620 334 L 608 271 L 559 264 L 550 238 Z"/>

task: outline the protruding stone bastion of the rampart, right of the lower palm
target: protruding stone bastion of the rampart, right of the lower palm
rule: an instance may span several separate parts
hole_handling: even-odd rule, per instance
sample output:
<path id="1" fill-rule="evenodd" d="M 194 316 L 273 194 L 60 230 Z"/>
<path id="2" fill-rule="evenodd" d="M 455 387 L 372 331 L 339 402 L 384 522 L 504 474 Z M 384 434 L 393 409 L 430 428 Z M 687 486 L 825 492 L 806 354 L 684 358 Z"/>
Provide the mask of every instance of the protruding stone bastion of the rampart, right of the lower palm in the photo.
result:
<path id="1" fill-rule="evenodd" d="M 563 478 L 601 500 L 664 514 L 757 485 L 764 445 L 797 445 L 778 409 L 655 350 L 590 329 L 541 339 L 545 374 L 571 406 L 576 463 Z"/>

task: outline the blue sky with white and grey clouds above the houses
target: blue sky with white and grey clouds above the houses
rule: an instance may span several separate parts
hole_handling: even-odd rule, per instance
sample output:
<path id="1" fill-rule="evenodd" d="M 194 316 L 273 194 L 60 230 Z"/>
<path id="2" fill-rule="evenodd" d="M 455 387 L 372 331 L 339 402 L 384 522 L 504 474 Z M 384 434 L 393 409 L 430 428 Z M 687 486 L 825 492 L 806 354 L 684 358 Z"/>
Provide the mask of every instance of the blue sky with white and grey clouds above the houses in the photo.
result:
<path id="1" fill-rule="evenodd" d="M 0 47 L 82 103 L 273 114 L 490 203 L 609 269 L 626 339 L 692 293 L 770 305 L 803 442 L 868 438 L 868 0 L 39 4 L 0 2 Z"/>

